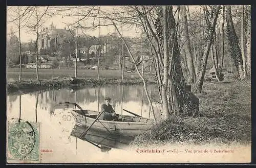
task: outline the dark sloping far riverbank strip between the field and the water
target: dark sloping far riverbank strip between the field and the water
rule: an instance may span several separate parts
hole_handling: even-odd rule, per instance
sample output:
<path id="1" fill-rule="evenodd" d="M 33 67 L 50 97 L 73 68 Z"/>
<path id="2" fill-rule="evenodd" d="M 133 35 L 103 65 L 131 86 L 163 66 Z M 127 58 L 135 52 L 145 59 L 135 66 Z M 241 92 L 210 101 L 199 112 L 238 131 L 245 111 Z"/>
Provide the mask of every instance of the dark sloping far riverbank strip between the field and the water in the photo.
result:
<path id="1" fill-rule="evenodd" d="M 147 84 L 154 84 L 154 81 L 146 80 Z M 37 90 L 47 90 L 47 89 L 61 89 L 65 87 L 95 87 L 103 85 L 136 85 L 143 84 L 141 79 L 109 79 L 100 78 L 99 80 L 95 78 L 77 78 L 75 82 L 72 82 L 70 78 L 54 78 L 54 79 L 44 79 L 44 80 L 26 80 L 26 81 L 13 81 L 7 83 L 7 94 L 16 93 L 28 93 Z"/>

